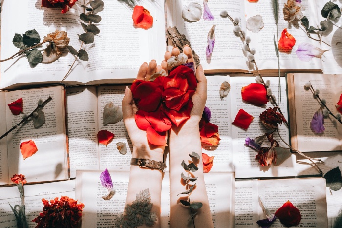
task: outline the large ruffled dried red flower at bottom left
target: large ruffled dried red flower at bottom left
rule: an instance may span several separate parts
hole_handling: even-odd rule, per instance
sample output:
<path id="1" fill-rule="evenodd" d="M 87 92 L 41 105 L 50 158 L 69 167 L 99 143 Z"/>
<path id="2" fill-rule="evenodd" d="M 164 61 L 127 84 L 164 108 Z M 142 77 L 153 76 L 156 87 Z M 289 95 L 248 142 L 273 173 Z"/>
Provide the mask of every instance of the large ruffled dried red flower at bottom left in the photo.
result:
<path id="1" fill-rule="evenodd" d="M 32 220 L 32 222 L 38 223 L 35 228 L 77 228 L 85 207 L 84 204 L 78 204 L 77 200 L 67 196 L 61 196 L 60 200 L 56 197 L 54 200 L 50 200 L 50 203 L 42 199 L 42 202 L 43 212 Z"/>

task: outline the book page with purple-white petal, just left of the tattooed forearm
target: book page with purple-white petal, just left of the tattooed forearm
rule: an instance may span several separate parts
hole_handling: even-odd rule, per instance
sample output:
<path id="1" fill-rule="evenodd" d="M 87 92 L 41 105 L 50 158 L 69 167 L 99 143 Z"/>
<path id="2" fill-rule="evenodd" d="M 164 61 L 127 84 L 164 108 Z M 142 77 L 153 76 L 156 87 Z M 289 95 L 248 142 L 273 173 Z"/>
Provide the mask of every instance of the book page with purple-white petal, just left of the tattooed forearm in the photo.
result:
<path id="1" fill-rule="evenodd" d="M 104 200 L 108 194 L 101 185 L 101 171 L 79 170 L 76 172 L 76 198 L 84 203 L 82 228 L 114 227 L 117 216 L 125 209 L 129 172 L 109 171 L 113 181 L 114 196 Z"/>

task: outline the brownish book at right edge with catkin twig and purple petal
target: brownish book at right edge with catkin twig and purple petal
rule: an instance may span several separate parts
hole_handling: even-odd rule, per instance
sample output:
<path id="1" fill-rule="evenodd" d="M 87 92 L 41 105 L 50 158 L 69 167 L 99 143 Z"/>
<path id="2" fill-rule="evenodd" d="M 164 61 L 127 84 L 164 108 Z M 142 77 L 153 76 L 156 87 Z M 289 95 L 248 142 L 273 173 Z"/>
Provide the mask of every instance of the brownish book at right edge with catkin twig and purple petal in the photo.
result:
<path id="1" fill-rule="evenodd" d="M 342 124 L 329 115 L 324 118 L 325 131 L 316 134 L 310 122 L 316 111 L 321 111 L 318 99 L 310 90 L 304 89 L 307 82 L 319 89 L 319 96 L 335 115 L 336 103 L 342 92 L 342 75 L 328 74 L 288 74 L 287 87 L 291 124 L 291 145 L 301 152 L 342 150 Z"/>

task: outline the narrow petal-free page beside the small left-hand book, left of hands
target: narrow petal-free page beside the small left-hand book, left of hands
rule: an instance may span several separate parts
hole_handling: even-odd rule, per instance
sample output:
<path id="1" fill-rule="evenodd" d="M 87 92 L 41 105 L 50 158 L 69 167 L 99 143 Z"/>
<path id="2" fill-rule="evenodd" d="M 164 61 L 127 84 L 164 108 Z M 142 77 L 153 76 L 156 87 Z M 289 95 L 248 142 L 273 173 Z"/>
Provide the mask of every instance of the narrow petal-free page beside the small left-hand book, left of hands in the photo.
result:
<path id="1" fill-rule="evenodd" d="M 70 177 L 76 169 L 99 169 L 97 92 L 94 86 L 66 91 Z"/>

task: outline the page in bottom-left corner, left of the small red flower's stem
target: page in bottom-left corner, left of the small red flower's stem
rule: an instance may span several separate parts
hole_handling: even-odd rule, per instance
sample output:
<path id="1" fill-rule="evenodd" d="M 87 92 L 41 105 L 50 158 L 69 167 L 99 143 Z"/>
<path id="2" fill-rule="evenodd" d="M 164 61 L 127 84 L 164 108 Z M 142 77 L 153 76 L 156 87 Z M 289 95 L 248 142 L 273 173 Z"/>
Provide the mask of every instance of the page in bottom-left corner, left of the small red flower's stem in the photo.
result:
<path id="1" fill-rule="evenodd" d="M 11 209 L 20 205 L 20 193 L 17 186 L 0 187 L 0 227 L 17 227 L 16 217 Z"/>

